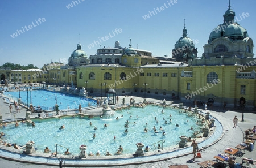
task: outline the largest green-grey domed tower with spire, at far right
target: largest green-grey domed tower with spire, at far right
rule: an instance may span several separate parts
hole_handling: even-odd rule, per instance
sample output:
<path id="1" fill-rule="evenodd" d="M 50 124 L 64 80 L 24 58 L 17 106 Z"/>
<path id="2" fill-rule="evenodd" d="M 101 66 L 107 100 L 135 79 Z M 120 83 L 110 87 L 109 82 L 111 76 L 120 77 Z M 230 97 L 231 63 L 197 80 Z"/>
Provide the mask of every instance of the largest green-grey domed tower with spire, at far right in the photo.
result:
<path id="1" fill-rule="evenodd" d="M 204 58 L 253 57 L 253 40 L 248 36 L 246 29 L 236 22 L 236 14 L 230 7 L 229 0 L 223 23 L 213 29 L 208 43 L 204 45 Z"/>

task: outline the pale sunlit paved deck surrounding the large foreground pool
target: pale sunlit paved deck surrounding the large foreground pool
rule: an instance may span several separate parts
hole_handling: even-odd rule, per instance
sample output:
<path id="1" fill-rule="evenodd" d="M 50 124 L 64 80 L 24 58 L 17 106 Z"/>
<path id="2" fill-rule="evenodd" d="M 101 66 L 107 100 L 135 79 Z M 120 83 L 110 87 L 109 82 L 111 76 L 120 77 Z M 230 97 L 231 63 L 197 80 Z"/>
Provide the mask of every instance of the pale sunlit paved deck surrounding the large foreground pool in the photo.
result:
<path id="1" fill-rule="evenodd" d="M 119 96 L 119 102 L 118 104 L 122 103 L 122 98 L 125 98 L 125 102 L 130 102 L 130 98 L 133 98 L 133 96 Z M 155 101 L 155 102 L 163 102 L 162 100 L 157 100 L 155 98 L 147 98 L 147 101 Z M 171 100 L 173 101 L 173 100 Z M 143 102 L 143 98 L 141 97 L 135 97 L 135 102 Z M 167 103 L 171 103 L 170 101 L 167 100 Z M 174 100 L 173 104 L 179 104 L 179 100 Z M 192 106 L 191 103 L 184 103 L 185 106 Z M 13 120 L 14 117 L 16 119 L 22 119 L 25 117 L 26 109 L 20 110 L 20 113 L 9 113 L 9 104 L 5 102 L 2 98 L 0 98 L 0 113 L 3 116 L 4 121 L 10 121 Z M 203 106 L 201 106 L 202 108 Z M 243 141 L 243 131 L 246 130 L 247 128 L 252 128 L 254 125 L 256 125 L 256 114 L 255 111 L 247 111 L 245 110 L 245 117 L 244 117 L 244 122 L 241 122 L 241 116 L 242 113 L 241 111 L 235 111 L 233 107 L 227 107 L 227 110 L 222 110 L 222 107 L 216 107 L 213 106 L 212 109 L 208 110 L 210 112 L 210 115 L 212 115 L 214 118 L 218 119 L 222 127 L 224 128 L 224 132 L 222 134 L 222 138 L 215 144 L 211 145 L 210 147 L 203 149 L 200 144 L 199 148 L 201 150 L 201 156 L 203 158 L 196 158 L 195 161 L 192 160 L 193 154 L 192 154 L 192 149 L 188 148 L 185 149 L 185 153 L 178 154 L 179 157 L 170 155 L 170 156 L 161 156 L 161 154 L 158 154 L 158 157 L 152 158 L 152 160 L 147 161 L 148 163 L 144 163 L 143 157 L 137 157 L 135 158 L 134 161 L 136 161 L 136 165 L 130 164 L 130 165 L 125 165 L 121 164 L 122 166 L 119 165 L 112 165 L 112 160 L 104 161 L 104 165 L 101 164 L 102 160 L 99 160 L 98 163 L 100 163 L 101 166 L 104 167 L 168 167 L 170 165 L 188 165 L 189 167 L 200 167 L 197 163 L 207 161 L 207 160 L 213 160 L 214 156 L 216 156 L 219 153 L 223 153 L 223 151 L 226 148 L 234 148 L 236 147 L 237 144 L 242 143 Z M 237 128 L 232 128 L 233 127 L 233 118 L 234 115 L 237 115 L 239 122 L 238 122 L 238 127 Z M 255 149 L 256 150 L 256 149 Z M 253 150 L 252 152 L 249 152 L 245 150 L 245 154 L 241 157 L 236 157 L 237 162 L 241 162 L 242 157 L 247 157 L 247 158 L 254 158 L 256 159 L 256 152 Z M 19 155 L 18 160 L 22 162 L 16 162 L 12 161 L 13 160 L 13 154 L 6 154 L 4 150 L 0 150 L 0 168 L 1 167 L 56 167 L 58 166 L 57 164 L 59 162 L 55 162 L 55 164 L 49 164 L 47 165 L 47 162 L 40 162 L 40 158 L 35 158 L 35 162 L 39 162 L 40 164 L 43 165 L 35 165 L 34 163 L 26 162 L 26 156 L 21 156 Z M 156 159 L 159 158 L 159 159 Z M 49 161 L 52 158 L 49 158 Z M 86 160 L 85 160 L 86 161 Z M 125 160 L 123 160 L 125 162 Z M 79 161 L 76 161 L 79 162 Z M 90 161 L 86 161 L 88 163 L 88 166 L 94 166 L 94 167 L 99 167 L 94 165 L 93 163 L 90 164 Z M 64 160 L 65 165 L 69 165 L 69 167 L 72 167 L 72 161 Z M 94 162 L 95 163 L 95 162 Z M 88 167 L 88 166 L 82 166 L 81 163 L 77 163 L 76 165 L 73 164 L 73 167 Z M 251 165 L 252 166 L 252 165 Z"/>

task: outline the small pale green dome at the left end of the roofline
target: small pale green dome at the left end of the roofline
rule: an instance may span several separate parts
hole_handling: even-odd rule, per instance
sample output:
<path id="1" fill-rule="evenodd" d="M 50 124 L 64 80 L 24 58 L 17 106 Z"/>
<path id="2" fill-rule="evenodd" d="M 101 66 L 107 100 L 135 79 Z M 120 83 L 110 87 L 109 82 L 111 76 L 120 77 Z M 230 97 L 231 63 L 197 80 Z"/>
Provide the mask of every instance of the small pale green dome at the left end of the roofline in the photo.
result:
<path id="1" fill-rule="evenodd" d="M 81 44 L 77 44 L 76 50 L 71 53 L 68 59 L 69 66 L 79 66 L 82 64 L 89 64 L 89 59 L 84 50 L 82 50 Z"/>

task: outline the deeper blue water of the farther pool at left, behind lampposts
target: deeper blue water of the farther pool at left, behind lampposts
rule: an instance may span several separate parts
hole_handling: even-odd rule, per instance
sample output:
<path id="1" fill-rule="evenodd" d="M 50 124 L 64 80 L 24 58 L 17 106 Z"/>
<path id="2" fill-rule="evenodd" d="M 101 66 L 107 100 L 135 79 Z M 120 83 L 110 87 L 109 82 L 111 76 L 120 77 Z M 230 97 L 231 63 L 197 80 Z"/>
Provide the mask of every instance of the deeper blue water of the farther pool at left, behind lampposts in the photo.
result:
<path id="1" fill-rule="evenodd" d="M 13 98 L 18 101 L 19 91 L 16 92 L 4 92 L 5 96 Z M 30 96 L 31 95 L 31 96 Z M 52 110 L 55 106 L 55 92 L 46 91 L 46 90 L 32 90 L 30 91 L 22 90 L 20 91 L 20 98 L 24 105 L 30 104 L 30 100 L 34 106 L 40 105 L 43 110 Z M 81 107 L 96 106 L 96 100 L 90 98 L 78 97 L 78 96 L 69 96 L 68 94 L 63 94 L 57 92 L 57 104 L 59 105 L 59 110 L 68 109 L 78 109 L 79 104 Z"/>

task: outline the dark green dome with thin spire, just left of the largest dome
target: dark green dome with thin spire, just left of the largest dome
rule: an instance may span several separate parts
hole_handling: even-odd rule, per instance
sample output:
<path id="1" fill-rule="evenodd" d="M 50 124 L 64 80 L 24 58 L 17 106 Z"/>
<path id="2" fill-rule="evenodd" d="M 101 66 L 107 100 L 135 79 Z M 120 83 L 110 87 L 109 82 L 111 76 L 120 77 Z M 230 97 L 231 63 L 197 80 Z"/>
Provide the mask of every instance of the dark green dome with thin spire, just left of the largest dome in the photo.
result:
<path id="1" fill-rule="evenodd" d="M 187 37 L 187 29 L 184 19 L 184 28 L 182 37 L 174 45 L 172 50 L 172 58 L 176 58 L 177 61 L 188 62 L 189 59 L 197 57 L 197 48 L 191 38 Z"/>

